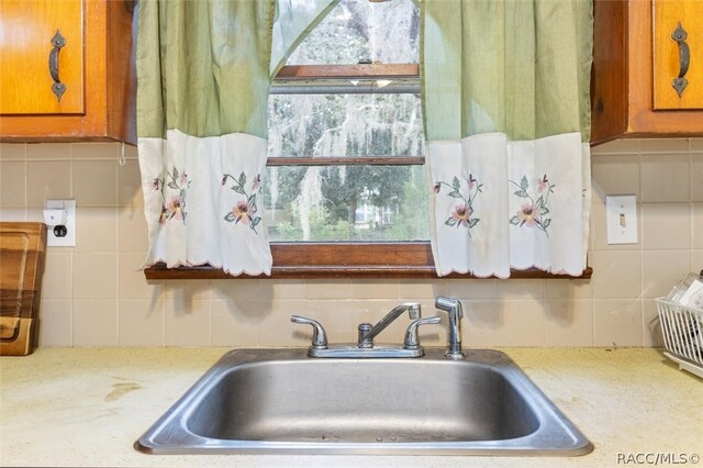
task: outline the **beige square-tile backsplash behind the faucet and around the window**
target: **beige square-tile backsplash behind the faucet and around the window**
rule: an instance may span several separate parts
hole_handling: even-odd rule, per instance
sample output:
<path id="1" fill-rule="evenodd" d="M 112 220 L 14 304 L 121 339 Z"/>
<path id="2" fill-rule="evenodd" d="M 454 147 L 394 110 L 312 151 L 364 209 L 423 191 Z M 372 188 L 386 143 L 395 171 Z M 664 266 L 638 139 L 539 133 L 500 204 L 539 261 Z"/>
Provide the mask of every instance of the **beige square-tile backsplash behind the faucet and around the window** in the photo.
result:
<path id="1" fill-rule="evenodd" d="M 400 301 L 425 315 L 437 294 L 464 301 L 468 346 L 658 346 L 654 299 L 703 268 L 703 138 L 620 140 L 592 151 L 591 280 L 146 281 L 136 151 L 115 143 L 1 144 L 0 220 L 41 221 L 75 198 L 77 245 L 49 247 L 41 346 L 306 346 L 291 313 L 353 342 Z M 607 245 L 605 196 L 636 194 L 636 245 Z M 383 332 L 400 342 L 404 324 Z M 445 327 L 423 343 L 444 345 Z"/>

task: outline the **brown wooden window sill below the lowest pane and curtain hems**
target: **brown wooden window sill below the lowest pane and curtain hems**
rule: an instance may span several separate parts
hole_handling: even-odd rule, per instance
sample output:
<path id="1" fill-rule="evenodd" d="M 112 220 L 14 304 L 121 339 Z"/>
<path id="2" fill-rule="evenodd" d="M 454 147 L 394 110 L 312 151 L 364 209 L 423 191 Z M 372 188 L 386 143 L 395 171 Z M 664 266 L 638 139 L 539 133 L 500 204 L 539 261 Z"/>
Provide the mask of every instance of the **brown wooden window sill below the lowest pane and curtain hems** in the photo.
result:
<path id="1" fill-rule="evenodd" d="M 344 256 L 339 252 L 344 252 Z M 427 242 L 409 243 L 272 243 L 274 267 L 270 276 L 233 277 L 209 265 L 166 268 L 157 264 L 146 268 L 146 279 L 453 279 L 477 278 L 451 274 L 438 277 Z M 342 257 L 342 258 L 341 258 Z M 590 279 L 587 267 L 580 276 L 551 275 L 531 268 L 511 269 L 511 279 Z M 493 277 L 491 277 L 493 278 Z"/>

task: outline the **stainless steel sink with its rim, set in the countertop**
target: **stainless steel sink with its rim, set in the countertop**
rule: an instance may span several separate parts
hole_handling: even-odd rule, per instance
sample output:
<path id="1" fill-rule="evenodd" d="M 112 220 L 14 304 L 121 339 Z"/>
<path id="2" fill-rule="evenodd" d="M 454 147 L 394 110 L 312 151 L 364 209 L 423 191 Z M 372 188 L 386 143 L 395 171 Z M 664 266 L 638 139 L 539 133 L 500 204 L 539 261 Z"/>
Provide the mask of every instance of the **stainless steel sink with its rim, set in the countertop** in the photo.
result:
<path id="1" fill-rule="evenodd" d="M 503 353 L 466 360 L 225 354 L 136 443 L 148 454 L 588 454 L 591 443 Z"/>

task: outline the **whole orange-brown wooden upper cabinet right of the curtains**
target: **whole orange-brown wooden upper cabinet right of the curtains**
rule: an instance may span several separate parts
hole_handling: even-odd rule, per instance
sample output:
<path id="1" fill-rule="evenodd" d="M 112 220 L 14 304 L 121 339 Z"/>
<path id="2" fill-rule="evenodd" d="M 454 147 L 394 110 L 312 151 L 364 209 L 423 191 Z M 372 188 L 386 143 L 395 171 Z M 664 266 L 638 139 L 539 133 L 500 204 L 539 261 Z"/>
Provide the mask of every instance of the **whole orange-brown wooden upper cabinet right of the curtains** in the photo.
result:
<path id="1" fill-rule="evenodd" d="M 703 1 L 594 0 L 593 7 L 591 143 L 703 135 Z M 679 21 L 690 52 L 681 98 L 672 87 L 681 71 L 671 38 Z"/>

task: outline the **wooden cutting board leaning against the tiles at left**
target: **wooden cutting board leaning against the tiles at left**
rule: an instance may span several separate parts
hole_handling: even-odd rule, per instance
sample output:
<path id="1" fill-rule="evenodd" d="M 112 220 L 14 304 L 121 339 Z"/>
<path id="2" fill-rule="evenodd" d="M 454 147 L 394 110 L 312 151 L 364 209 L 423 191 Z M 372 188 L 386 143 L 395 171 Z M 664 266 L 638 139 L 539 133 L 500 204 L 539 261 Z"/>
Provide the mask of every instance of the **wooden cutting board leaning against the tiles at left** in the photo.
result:
<path id="1" fill-rule="evenodd" d="M 0 222 L 0 355 L 36 347 L 46 225 Z"/>

